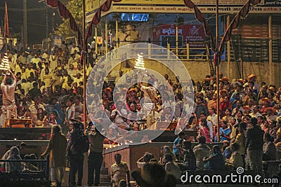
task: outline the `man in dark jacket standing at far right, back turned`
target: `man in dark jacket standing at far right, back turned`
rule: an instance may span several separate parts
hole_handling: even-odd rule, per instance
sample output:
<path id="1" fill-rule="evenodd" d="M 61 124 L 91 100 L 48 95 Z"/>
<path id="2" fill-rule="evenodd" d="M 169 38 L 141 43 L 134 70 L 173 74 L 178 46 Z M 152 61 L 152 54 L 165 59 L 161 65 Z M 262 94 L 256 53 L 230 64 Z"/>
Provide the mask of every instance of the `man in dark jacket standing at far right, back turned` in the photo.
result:
<path id="1" fill-rule="evenodd" d="M 246 135 L 246 151 L 249 156 L 250 169 L 262 174 L 262 158 L 263 158 L 263 130 L 257 124 L 256 118 L 251 118 L 250 127 Z"/>

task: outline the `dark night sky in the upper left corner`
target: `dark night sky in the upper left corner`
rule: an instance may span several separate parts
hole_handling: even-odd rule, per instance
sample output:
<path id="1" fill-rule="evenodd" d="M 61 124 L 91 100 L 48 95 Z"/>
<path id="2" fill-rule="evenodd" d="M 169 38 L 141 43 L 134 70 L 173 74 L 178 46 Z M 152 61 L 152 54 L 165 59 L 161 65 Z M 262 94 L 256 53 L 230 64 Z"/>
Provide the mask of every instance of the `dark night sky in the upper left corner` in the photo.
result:
<path id="1" fill-rule="evenodd" d="M 23 1 L 6 0 L 8 6 L 8 20 L 10 34 L 21 39 L 21 27 L 23 26 Z M 62 1 L 64 2 L 64 1 Z M 53 17 L 53 12 L 55 16 Z M 4 25 L 5 1 L 0 1 L 0 24 Z M 53 19 L 53 18 L 54 19 Z M 53 21 L 54 20 L 54 21 Z M 52 25 L 57 27 L 61 22 L 57 9 L 48 7 L 48 32 L 51 32 Z M 54 24 L 53 24 L 54 23 Z M 39 44 L 46 38 L 46 3 L 38 0 L 27 0 L 27 33 L 28 44 Z"/>

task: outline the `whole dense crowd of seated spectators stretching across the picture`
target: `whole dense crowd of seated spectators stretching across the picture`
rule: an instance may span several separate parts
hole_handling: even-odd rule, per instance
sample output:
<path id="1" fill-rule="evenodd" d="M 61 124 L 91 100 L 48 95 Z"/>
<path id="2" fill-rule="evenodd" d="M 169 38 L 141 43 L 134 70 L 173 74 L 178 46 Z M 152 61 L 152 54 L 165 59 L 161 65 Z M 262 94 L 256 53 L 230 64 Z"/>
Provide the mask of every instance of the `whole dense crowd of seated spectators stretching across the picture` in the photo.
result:
<path id="1" fill-rule="evenodd" d="M 90 60 L 86 64 L 84 75 L 80 49 L 74 44 L 66 43 L 60 47 L 55 46 L 51 53 L 30 51 L 27 55 L 25 52 L 11 53 L 8 50 L 7 55 L 11 63 L 12 78 L 3 76 L 0 125 L 5 126 L 6 118 L 31 119 L 32 127 L 60 125 L 71 142 L 71 134 L 74 133 L 70 132 L 77 128 L 74 127 L 72 120 L 83 120 L 83 76 L 88 78 L 94 65 L 93 61 Z M 93 133 L 93 139 L 98 141 L 91 141 L 90 150 L 93 153 L 89 157 L 100 159 L 95 162 L 89 161 L 91 176 L 95 169 L 99 170 L 101 167 L 102 144 L 117 144 L 121 141 L 128 143 L 129 139 L 119 137 L 128 132 L 152 127 L 157 120 L 177 121 L 183 126 L 182 130 L 197 131 L 198 134 L 195 137 L 178 134 L 178 139 L 174 143 L 174 153 L 171 151 L 164 155 L 166 171 L 176 168 L 175 160 L 183 160 L 184 167 L 188 169 L 248 167 L 262 172 L 261 160 L 280 160 L 281 88 L 277 88 L 276 85 L 258 83 L 254 74 L 249 74 L 244 80 L 230 81 L 220 73 L 218 85 L 215 76 L 206 76 L 197 83 L 192 81 L 195 96 L 192 99 L 195 103 L 194 110 L 188 114 L 185 109 L 187 101 L 183 97 L 186 93 L 178 76 L 169 78 L 168 74 L 164 75 L 166 83 L 173 91 L 173 95 L 170 95 L 166 92 L 165 83 L 155 84 L 157 78 L 152 74 L 145 74 L 148 84 L 143 84 L 143 79 L 138 79 L 137 74 L 124 81 L 123 73 L 120 70 L 115 81 L 106 80 L 104 83 L 93 81 L 89 84 L 89 90 L 101 87 L 103 90 L 101 96 L 96 92 L 86 93 L 89 99 L 88 109 L 91 111 L 87 116 L 88 120 L 94 125 L 101 125 L 100 131 L 106 137 L 96 137 L 96 132 Z M 100 77 L 106 76 L 101 71 L 95 74 L 100 74 Z M 138 79 L 138 83 L 131 85 L 135 78 Z M 120 80 L 124 82 L 115 89 L 115 84 Z M 219 87 L 219 92 L 216 92 L 216 86 Z M 15 90 L 13 96 L 10 93 L 11 89 Z M 174 102 L 171 97 L 174 97 Z M 149 98 L 149 101 L 145 100 L 146 98 Z M 219 121 L 216 116 L 217 109 L 221 116 Z M 181 118 L 182 116 L 188 118 Z M 185 141 L 182 141 L 183 139 Z M 190 144 L 192 141 L 200 144 L 192 149 Z M 209 148 L 204 144 L 217 141 L 223 142 L 223 150 L 218 146 Z M 98 148 L 92 147 L 95 144 L 98 144 L 96 145 Z M 70 147 L 67 147 L 70 150 Z M 70 156 L 73 155 L 75 154 Z M 116 159 L 117 163 L 122 163 L 119 161 L 121 159 L 119 155 Z M 79 172 L 81 165 L 78 163 L 81 163 L 81 155 L 74 156 L 70 163 L 74 168 L 70 172 L 72 180 L 70 183 L 75 183 L 74 176 L 78 170 L 78 183 L 81 184 Z M 128 172 L 126 167 L 124 171 Z M 138 176 L 137 174 L 136 177 Z M 178 176 L 175 178 L 178 179 Z M 94 181 L 99 183 L 98 178 L 89 179 L 89 185 Z M 60 179 L 58 181 L 60 182 Z"/>

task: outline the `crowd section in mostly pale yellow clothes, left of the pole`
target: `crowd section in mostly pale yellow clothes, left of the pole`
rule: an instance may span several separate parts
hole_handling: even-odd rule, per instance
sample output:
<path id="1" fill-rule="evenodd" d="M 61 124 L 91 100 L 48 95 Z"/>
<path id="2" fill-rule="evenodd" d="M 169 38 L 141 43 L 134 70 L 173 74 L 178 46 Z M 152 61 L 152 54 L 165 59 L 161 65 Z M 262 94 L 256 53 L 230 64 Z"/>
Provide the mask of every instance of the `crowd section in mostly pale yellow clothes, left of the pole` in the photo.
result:
<path id="1" fill-rule="evenodd" d="M 13 79 L 16 81 L 12 80 L 15 83 L 14 94 L 1 89 L 1 95 L 8 98 L 1 97 L 4 113 L 1 114 L 1 127 L 5 125 L 6 115 L 8 118 L 31 119 L 32 127 L 51 127 L 55 124 L 62 126 L 66 124 L 68 127 L 70 118 L 81 118 L 83 113 L 81 96 L 84 75 L 79 48 L 74 44 L 70 46 L 63 44 L 60 48 L 55 46 L 51 53 L 46 51 L 28 53 L 25 51 L 18 54 L 17 51 L 11 53 L 7 50 L 6 55 L 11 68 L 9 74 L 15 75 Z M 87 64 L 87 76 L 92 67 L 93 60 L 90 60 Z M 6 90 L 11 90 L 11 78 L 1 76 L 1 80 L 4 85 L 10 85 Z M 14 95 L 14 98 L 9 98 L 11 95 Z M 9 104 L 15 106 L 15 111 L 6 113 Z M 67 104 L 74 106 L 74 113 L 69 112 L 72 116 L 67 116 Z"/>

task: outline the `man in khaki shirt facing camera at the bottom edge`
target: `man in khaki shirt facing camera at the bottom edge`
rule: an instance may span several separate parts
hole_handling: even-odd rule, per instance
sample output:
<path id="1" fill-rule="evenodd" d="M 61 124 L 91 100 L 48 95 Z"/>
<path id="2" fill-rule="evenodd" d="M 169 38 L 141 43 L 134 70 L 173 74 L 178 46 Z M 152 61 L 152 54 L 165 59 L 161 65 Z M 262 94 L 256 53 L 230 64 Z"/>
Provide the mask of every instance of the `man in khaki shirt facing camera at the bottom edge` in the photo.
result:
<path id="1" fill-rule="evenodd" d="M 130 184 L 129 167 L 126 164 L 126 162 L 121 161 L 121 158 L 122 156 L 119 153 L 117 153 L 115 155 L 115 163 L 111 165 L 111 176 L 113 181 L 112 186 L 113 187 L 118 186 L 119 181 L 127 179 L 128 186 L 130 187 L 131 184 Z"/>

